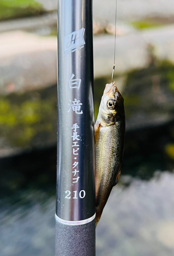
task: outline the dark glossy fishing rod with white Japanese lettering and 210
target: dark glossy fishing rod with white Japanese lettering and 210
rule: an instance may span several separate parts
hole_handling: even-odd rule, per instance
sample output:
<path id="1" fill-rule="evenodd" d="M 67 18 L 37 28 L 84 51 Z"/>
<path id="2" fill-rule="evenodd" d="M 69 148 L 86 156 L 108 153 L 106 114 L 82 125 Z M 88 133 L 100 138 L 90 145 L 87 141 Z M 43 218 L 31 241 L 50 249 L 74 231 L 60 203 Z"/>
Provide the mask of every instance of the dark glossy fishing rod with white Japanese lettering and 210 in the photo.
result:
<path id="1" fill-rule="evenodd" d="M 58 1 L 56 256 L 95 255 L 92 1 Z"/>

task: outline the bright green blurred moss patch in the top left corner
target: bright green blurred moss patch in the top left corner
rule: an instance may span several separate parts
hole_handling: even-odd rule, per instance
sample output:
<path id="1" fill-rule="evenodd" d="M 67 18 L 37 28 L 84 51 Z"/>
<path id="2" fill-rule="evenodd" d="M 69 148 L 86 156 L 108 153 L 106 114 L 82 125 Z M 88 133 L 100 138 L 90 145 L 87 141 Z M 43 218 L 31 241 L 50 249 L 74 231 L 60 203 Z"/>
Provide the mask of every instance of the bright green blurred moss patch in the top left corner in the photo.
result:
<path id="1" fill-rule="evenodd" d="M 0 0 L 0 20 L 38 15 L 44 12 L 34 0 Z"/>

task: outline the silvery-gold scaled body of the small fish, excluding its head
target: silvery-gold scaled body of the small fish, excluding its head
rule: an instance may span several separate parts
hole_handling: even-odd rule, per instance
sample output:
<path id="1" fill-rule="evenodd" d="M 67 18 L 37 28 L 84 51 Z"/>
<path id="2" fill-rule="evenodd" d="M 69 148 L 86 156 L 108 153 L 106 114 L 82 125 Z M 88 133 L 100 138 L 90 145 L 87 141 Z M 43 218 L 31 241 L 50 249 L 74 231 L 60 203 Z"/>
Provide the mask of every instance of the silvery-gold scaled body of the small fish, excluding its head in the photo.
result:
<path id="1" fill-rule="evenodd" d="M 121 163 L 122 160 L 120 126 L 119 122 L 100 129 L 100 138 L 96 144 L 96 212 L 101 212 L 104 208 L 118 172 L 119 164 L 116 163 Z"/>

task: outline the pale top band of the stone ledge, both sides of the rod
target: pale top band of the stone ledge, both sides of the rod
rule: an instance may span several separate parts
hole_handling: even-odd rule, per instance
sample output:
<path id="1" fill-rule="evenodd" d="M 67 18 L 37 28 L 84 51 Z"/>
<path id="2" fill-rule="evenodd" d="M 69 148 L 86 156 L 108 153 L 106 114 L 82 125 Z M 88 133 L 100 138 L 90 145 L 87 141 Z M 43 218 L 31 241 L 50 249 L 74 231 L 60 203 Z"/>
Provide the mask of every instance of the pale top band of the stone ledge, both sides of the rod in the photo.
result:
<path id="1" fill-rule="evenodd" d="M 11 40 L 13 38 L 13 40 Z M 57 38 L 14 31 L 0 35 L 0 92 L 26 91 L 57 82 Z M 155 56 L 174 62 L 174 26 L 117 37 L 115 73 L 148 66 L 148 47 Z M 110 76 L 114 36 L 94 37 L 94 77 Z"/>

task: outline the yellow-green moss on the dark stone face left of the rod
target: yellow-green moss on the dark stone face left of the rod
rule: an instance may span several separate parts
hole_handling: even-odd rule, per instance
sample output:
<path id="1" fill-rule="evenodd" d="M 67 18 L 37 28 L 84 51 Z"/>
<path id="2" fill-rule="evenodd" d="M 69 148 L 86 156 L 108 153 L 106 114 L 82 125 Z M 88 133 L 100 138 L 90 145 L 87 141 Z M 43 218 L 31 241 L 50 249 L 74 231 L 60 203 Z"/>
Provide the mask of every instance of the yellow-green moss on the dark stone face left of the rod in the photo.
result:
<path id="1" fill-rule="evenodd" d="M 11 146 L 56 141 L 56 123 L 57 94 L 52 88 L 0 96 L 0 133 Z"/>

